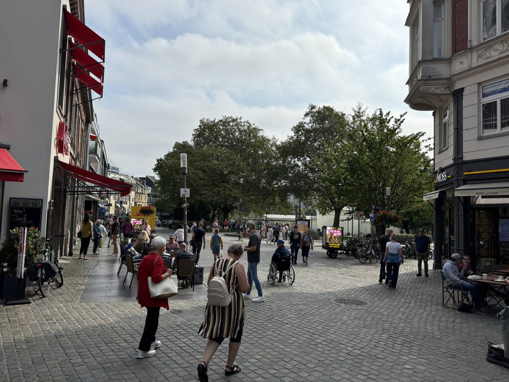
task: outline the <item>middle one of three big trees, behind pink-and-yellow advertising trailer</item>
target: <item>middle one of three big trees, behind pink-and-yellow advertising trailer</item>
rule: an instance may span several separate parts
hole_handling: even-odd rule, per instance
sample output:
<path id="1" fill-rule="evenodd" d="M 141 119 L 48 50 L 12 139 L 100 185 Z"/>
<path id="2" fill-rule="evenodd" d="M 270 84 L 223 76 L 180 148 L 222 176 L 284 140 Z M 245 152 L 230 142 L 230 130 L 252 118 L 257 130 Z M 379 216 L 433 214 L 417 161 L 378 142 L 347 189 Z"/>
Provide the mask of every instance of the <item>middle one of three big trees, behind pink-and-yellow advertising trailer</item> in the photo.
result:
<path id="1" fill-rule="evenodd" d="M 292 135 L 279 147 L 286 159 L 287 193 L 314 206 L 321 214 L 334 212 L 340 222 L 351 190 L 348 158 L 350 124 L 343 112 L 332 106 L 310 104 Z"/>

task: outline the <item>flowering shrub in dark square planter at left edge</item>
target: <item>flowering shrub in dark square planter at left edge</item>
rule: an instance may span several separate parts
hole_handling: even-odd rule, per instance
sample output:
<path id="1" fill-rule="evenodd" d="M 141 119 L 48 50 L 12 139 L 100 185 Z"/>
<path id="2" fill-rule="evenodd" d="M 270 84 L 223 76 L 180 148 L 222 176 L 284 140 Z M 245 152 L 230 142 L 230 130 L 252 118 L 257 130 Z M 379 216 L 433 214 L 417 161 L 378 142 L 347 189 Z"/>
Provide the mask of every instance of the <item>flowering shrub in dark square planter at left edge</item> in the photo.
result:
<path id="1" fill-rule="evenodd" d="M 0 299 L 8 300 L 23 297 L 26 278 L 25 271 L 35 264 L 44 253 L 46 239 L 39 230 L 30 227 L 26 232 L 25 262 L 23 279 L 18 280 L 19 228 L 13 228 L 0 247 Z M 19 292 L 18 292 L 19 291 Z"/>

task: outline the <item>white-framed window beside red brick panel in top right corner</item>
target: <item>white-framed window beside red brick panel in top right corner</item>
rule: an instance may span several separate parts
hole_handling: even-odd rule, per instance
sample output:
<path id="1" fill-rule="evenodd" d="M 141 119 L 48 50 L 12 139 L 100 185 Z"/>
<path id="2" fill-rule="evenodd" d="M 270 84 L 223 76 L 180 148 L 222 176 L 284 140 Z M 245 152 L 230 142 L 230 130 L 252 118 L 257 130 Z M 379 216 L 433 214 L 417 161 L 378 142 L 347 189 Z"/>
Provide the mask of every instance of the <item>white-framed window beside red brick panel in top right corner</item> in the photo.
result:
<path id="1" fill-rule="evenodd" d="M 480 0 L 482 40 L 509 31 L 509 0 Z"/>

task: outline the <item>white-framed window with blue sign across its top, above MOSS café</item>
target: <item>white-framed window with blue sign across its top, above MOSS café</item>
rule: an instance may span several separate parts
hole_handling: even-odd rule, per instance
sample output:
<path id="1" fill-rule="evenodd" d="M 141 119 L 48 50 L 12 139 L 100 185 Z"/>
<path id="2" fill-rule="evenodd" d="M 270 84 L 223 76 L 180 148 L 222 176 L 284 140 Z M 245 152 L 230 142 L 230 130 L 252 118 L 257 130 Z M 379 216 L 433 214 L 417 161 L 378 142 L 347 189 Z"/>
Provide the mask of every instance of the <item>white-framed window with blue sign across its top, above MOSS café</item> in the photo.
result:
<path id="1" fill-rule="evenodd" d="M 483 86 L 481 134 L 509 131 L 509 79 Z"/>

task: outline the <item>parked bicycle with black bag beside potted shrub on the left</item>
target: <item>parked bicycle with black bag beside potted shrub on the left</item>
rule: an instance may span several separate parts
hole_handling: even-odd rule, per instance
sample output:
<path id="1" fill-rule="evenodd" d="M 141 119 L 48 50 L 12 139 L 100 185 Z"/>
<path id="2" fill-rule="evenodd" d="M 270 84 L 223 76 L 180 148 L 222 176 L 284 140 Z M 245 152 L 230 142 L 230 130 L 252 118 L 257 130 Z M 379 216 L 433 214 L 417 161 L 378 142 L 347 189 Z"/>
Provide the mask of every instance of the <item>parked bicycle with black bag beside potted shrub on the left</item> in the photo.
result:
<path id="1" fill-rule="evenodd" d="M 56 259 L 51 245 L 51 240 L 55 237 L 64 237 L 64 235 L 54 235 L 52 238 L 46 238 L 46 248 L 42 254 L 43 259 L 39 259 L 26 271 L 29 280 L 37 283 L 38 289 L 34 295 L 40 292 L 42 297 L 46 297 L 49 294 L 51 283 L 55 283 L 57 288 L 64 285 L 63 268 Z"/>

